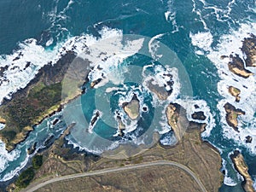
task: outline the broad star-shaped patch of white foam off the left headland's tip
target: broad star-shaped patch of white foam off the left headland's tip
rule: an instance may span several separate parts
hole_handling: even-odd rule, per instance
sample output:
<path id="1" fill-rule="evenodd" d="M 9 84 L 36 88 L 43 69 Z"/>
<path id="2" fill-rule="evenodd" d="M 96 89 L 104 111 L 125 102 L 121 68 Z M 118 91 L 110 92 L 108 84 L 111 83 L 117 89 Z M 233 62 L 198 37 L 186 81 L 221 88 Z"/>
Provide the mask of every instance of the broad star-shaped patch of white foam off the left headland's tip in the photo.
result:
<path id="1" fill-rule="evenodd" d="M 100 32 L 102 39 L 94 41 L 94 44 L 89 46 L 90 55 L 80 55 L 92 63 L 92 70 L 89 74 L 90 81 L 103 79 L 96 88 L 103 86 L 111 81 L 113 84 L 124 83 L 124 73 L 127 72 L 127 67 L 122 61 L 125 58 L 136 54 L 143 46 L 143 38 L 127 41 L 122 44 L 123 34 L 119 30 L 109 32 L 107 27 L 104 27 Z"/>

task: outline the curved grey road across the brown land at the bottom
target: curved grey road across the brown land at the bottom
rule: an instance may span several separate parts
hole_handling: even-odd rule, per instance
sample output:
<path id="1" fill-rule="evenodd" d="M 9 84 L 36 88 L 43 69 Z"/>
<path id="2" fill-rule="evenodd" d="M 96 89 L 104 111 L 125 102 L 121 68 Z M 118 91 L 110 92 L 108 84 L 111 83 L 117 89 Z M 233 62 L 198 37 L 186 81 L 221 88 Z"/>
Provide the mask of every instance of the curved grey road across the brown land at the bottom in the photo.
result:
<path id="1" fill-rule="evenodd" d="M 201 188 L 201 191 L 207 192 L 207 189 L 201 183 L 201 180 L 198 177 L 196 177 L 195 173 L 192 172 L 187 166 L 183 166 L 182 164 L 179 164 L 174 161 L 169 161 L 169 160 L 158 160 L 158 161 L 153 161 L 153 162 L 148 162 L 148 163 L 136 164 L 136 165 L 132 165 L 132 166 L 113 167 L 113 168 L 108 168 L 108 169 L 77 173 L 77 174 L 72 174 L 72 175 L 67 175 L 67 176 L 62 176 L 62 177 L 55 177 L 55 178 L 49 179 L 48 181 L 45 181 L 45 182 L 32 183 L 32 185 L 28 186 L 26 189 L 21 190 L 20 192 L 33 192 L 37 189 L 44 187 L 47 184 L 55 183 L 55 182 L 59 182 L 59 181 L 67 180 L 67 179 L 78 178 L 78 177 L 88 177 L 88 176 L 94 176 L 94 175 L 102 175 L 104 173 L 109 173 L 109 172 L 127 171 L 127 170 L 131 170 L 131 169 L 143 168 L 143 167 L 148 167 L 148 166 L 177 166 L 178 168 L 182 169 L 183 171 L 189 173 L 189 175 L 195 179 L 195 182 L 198 183 L 198 185 Z"/>

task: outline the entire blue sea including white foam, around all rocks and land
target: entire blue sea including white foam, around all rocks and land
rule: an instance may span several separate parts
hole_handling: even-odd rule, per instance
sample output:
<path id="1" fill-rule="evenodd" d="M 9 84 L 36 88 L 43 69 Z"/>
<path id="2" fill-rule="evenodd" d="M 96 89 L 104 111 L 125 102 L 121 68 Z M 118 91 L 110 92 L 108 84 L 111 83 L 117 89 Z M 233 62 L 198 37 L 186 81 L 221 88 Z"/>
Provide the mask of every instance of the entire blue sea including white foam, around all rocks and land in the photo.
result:
<path id="1" fill-rule="evenodd" d="M 195 111 L 203 110 L 206 113 L 204 122 L 207 122 L 207 131 L 202 133 L 202 137 L 217 147 L 223 158 L 225 178 L 220 191 L 241 190 L 241 177 L 237 175 L 229 157 L 235 149 L 244 155 L 249 173 L 256 181 L 255 75 L 241 79 L 230 73 L 228 61 L 220 60 L 221 55 L 235 53 L 242 56 L 242 39 L 250 33 L 256 34 L 255 1 L 3 0 L 0 2 L 0 26 L 0 67 L 9 67 L 0 77 L 3 80 L 0 85 L 1 101 L 4 97 L 11 98 L 15 91 L 25 87 L 34 78 L 41 67 L 49 61 L 54 64 L 67 50 L 80 55 L 86 51 L 86 46 L 114 43 L 111 49 L 106 50 L 106 60 L 101 60 L 101 49 L 96 49 L 97 46 L 90 48 L 88 58 L 85 56 L 95 67 L 90 73 L 90 81 L 98 79 L 102 73 L 107 80 L 101 82 L 96 90 L 88 89 L 81 100 L 67 105 L 66 111 L 76 113 L 74 119 L 68 119 L 65 110 L 45 119 L 11 153 L 7 153 L 0 142 L 0 182 L 14 177 L 26 165 L 29 158 L 26 148 L 32 143 L 37 142 L 38 146 L 44 148 L 44 141 L 51 135 L 59 137 L 66 128 L 65 121 L 81 122 L 67 137 L 68 142 L 96 154 L 125 141 L 150 143 L 150 139 L 141 137 L 145 132 L 151 136 L 157 131 L 162 136 L 161 143 L 175 143 L 163 113 L 166 103 L 157 102 L 154 95 L 148 95 L 148 91 L 140 86 L 151 76 L 156 79 L 155 84 L 165 84 L 166 72 L 172 74 L 174 81 L 172 95 L 167 102 L 181 104 L 187 109 L 189 119 Z M 137 38 L 125 45 L 121 44 L 121 38 L 127 35 Z M 140 55 L 145 42 L 149 55 Z M 172 50 L 170 55 L 159 54 L 159 49 L 166 49 L 162 44 Z M 117 52 L 119 54 L 114 55 Z M 17 56 L 20 58 L 14 60 Z M 172 59 L 170 62 L 175 61 L 177 66 L 166 67 L 157 62 L 165 56 Z M 32 62 L 31 67 L 20 70 L 27 61 Z M 255 67 L 249 69 L 256 73 Z M 236 103 L 227 93 L 229 85 L 241 90 L 241 102 Z M 134 92 L 141 107 L 147 110 L 140 113 L 141 120 L 130 122 L 121 113 L 117 101 L 131 101 Z M 246 111 L 239 118 L 239 134 L 225 122 L 225 102 Z M 195 104 L 199 108 L 195 108 Z M 82 109 L 80 113 L 75 109 L 78 105 Z M 81 133 L 90 128 L 88 122 L 97 109 L 101 118 L 91 127 L 92 135 L 84 137 L 86 134 Z M 125 141 L 117 137 L 117 131 L 113 129 L 117 126 L 117 113 L 129 127 Z M 151 121 L 152 117 L 154 121 Z M 52 126 L 55 118 L 61 119 L 60 123 Z M 0 129 L 4 129 L 3 125 L 0 125 Z M 253 137 L 252 143 L 245 143 L 247 135 Z M 102 137 L 103 142 L 99 140 Z"/>

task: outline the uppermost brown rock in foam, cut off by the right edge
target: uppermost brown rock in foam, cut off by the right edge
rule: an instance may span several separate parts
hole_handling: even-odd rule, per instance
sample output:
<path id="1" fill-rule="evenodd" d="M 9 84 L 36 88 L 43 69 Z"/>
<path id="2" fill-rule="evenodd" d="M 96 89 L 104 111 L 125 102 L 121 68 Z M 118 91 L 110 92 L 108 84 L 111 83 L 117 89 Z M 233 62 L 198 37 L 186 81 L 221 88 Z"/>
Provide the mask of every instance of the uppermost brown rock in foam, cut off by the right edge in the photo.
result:
<path id="1" fill-rule="evenodd" d="M 256 67 L 256 36 L 251 34 L 250 38 L 244 38 L 241 50 L 246 55 L 246 66 Z"/>

